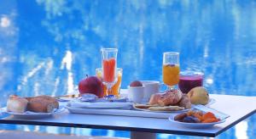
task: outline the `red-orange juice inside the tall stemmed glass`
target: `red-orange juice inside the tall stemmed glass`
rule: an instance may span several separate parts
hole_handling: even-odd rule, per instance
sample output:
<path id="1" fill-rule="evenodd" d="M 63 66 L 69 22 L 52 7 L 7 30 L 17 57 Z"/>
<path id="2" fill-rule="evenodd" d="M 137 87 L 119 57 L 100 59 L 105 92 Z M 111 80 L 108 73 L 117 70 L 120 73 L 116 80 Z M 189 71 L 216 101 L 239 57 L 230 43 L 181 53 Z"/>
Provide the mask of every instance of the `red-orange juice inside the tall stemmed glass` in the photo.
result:
<path id="1" fill-rule="evenodd" d="M 109 58 L 103 60 L 103 80 L 113 82 L 115 75 L 115 59 Z"/>

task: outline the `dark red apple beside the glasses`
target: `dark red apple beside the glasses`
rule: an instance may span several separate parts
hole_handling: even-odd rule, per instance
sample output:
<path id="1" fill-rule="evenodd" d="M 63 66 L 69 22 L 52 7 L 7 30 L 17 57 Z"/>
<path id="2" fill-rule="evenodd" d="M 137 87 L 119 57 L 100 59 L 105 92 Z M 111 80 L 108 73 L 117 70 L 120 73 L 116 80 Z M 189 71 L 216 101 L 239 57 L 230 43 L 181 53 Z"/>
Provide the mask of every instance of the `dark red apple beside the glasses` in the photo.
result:
<path id="1" fill-rule="evenodd" d="M 103 97 L 103 84 L 96 76 L 88 76 L 79 82 L 79 93 L 92 93 L 97 97 Z"/>

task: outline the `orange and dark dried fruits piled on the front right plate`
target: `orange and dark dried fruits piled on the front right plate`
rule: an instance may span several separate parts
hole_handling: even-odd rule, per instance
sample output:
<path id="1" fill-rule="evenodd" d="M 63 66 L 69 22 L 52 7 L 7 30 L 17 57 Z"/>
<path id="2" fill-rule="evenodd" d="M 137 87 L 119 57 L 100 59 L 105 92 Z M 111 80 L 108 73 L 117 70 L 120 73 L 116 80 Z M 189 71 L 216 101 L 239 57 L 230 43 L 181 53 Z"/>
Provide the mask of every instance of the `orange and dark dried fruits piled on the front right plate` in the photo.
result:
<path id="1" fill-rule="evenodd" d="M 201 111 L 192 110 L 189 110 L 187 113 L 177 114 L 174 120 L 185 123 L 212 123 L 219 121 L 215 114 L 211 112 L 203 114 Z"/>

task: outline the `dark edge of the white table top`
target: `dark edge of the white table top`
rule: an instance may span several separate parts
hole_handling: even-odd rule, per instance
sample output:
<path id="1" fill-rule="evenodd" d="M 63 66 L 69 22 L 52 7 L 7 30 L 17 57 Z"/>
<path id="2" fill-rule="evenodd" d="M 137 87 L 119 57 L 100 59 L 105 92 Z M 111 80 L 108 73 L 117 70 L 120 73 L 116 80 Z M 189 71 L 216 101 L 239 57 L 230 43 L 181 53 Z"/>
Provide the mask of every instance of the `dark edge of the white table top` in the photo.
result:
<path id="1" fill-rule="evenodd" d="M 215 133 L 204 133 L 204 132 L 195 132 L 195 131 L 175 131 L 175 130 L 164 130 L 164 129 L 149 129 L 149 128 L 140 128 L 140 127 L 125 127 L 119 125 L 94 125 L 94 124 L 73 124 L 73 123 L 55 123 L 55 122 L 41 122 L 41 121 L 29 121 L 29 120 L 6 120 L 4 118 L 0 119 L 0 124 L 15 124 L 15 125 L 49 125 L 49 126 L 60 126 L 60 127 L 75 127 L 75 128 L 91 128 L 91 129 L 104 129 L 104 130 L 116 130 L 116 131 L 141 131 L 141 132 L 151 132 L 151 133 L 166 133 L 174 135 L 185 135 L 185 136 L 207 136 L 215 137 L 219 134 L 227 131 L 234 125 L 245 120 L 251 115 L 256 113 L 256 109 L 253 109 L 250 113 L 242 116 L 240 119 L 230 123 L 223 129 Z M 6 116 L 7 118 L 9 116 Z"/>

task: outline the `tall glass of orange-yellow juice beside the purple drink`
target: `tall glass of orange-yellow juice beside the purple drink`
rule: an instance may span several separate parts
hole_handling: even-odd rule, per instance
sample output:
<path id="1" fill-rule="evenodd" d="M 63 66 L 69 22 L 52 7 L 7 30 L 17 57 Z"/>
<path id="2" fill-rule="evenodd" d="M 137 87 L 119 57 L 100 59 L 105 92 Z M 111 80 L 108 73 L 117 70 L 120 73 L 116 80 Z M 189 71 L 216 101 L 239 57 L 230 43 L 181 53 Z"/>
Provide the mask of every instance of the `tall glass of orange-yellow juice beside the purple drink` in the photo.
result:
<path id="1" fill-rule="evenodd" d="M 179 53 L 164 53 L 162 70 L 164 83 L 169 89 L 173 89 L 179 81 Z"/>

